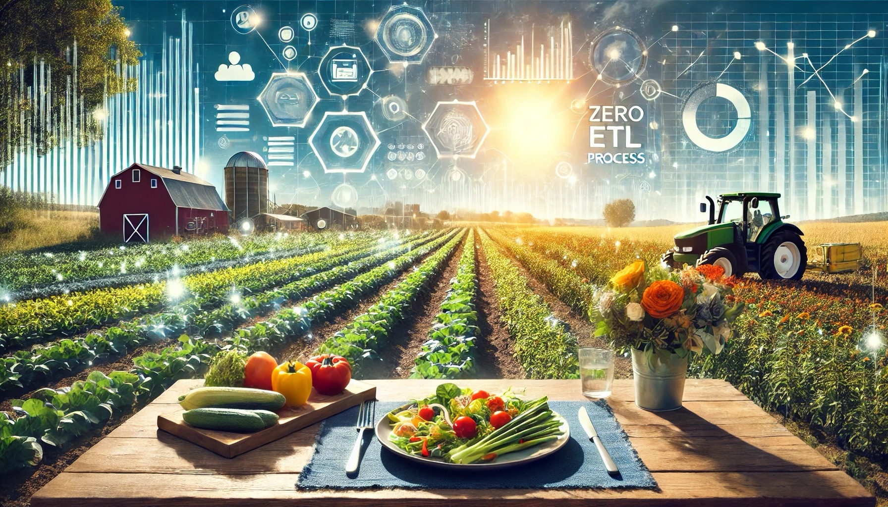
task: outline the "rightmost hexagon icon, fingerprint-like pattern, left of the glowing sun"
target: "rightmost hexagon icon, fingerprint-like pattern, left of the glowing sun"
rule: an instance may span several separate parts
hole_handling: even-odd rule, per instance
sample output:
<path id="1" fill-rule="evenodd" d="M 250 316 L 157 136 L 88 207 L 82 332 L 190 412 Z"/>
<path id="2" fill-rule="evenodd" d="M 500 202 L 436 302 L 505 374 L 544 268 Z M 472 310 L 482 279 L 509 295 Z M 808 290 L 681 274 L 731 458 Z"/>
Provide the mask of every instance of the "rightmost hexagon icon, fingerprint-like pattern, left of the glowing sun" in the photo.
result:
<path id="1" fill-rule="evenodd" d="M 439 102 L 423 123 L 438 158 L 475 158 L 490 127 L 472 102 Z"/>

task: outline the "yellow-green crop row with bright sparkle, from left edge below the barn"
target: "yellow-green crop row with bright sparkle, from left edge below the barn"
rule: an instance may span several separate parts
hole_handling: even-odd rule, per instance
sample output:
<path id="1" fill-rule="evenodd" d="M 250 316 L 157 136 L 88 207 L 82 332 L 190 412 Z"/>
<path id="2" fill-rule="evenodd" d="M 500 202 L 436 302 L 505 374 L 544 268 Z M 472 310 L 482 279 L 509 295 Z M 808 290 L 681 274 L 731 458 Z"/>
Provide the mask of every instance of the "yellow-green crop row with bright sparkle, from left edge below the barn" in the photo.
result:
<path id="1" fill-rule="evenodd" d="M 367 249 L 371 238 L 343 242 L 335 250 L 258 262 L 196 273 L 185 278 L 76 292 L 61 296 L 20 301 L 0 306 L 0 350 L 20 348 L 51 337 L 70 336 L 84 329 L 156 311 L 180 301 L 191 307 L 218 305 L 232 296 L 233 289 L 255 291 L 285 283 L 299 265 L 354 249 Z M 188 311 L 188 308 L 184 308 Z"/>

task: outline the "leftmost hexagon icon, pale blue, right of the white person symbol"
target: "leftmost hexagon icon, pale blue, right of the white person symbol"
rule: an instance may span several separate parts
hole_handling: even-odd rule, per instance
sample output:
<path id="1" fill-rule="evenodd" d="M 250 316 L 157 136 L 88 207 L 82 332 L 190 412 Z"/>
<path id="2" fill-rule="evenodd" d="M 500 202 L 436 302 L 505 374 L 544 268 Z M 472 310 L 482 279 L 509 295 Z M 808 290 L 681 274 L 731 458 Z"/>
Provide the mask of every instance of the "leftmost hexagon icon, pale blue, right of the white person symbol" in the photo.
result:
<path id="1" fill-rule="evenodd" d="M 305 127 L 318 103 L 308 76 L 302 72 L 272 74 L 257 98 L 275 127 Z"/>

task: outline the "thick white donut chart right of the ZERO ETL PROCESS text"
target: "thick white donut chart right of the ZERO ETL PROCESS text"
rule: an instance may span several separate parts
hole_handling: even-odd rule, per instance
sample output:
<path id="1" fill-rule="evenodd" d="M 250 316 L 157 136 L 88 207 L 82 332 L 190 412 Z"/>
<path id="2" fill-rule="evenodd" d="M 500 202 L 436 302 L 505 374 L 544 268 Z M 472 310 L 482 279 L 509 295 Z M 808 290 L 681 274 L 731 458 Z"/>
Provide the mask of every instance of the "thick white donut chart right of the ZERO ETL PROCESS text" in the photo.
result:
<path id="1" fill-rule="evenodd" d="M 713 97 L 727 99 L 737 110 L 737 124 L 723 138 L 710 138 L 700 131 L 697 125 L 697 109 L 704 100 Z M 685 128 L 687 139 L 690 139 L 694 145 L 706 151 L 722 153 L 737 147 L 743 139 L 746 139 L 749 127 L 752 126 L 752 110 L 749 107 L 749 100 L 730 84 L 706 83 L 694 89 L 686 99 L 681 112 L 681 123 Z"/>

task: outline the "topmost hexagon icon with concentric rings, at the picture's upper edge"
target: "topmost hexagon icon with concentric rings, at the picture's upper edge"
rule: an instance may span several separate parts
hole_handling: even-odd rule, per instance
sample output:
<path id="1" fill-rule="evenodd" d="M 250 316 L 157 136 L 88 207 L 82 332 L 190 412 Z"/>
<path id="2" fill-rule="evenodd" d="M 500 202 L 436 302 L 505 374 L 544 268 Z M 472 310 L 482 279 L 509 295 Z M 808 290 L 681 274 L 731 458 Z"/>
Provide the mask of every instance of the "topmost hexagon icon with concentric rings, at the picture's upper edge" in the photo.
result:
<path id="1" fill-rule="evenodd" d="M 403 4 L 389 8 L 374 38 L 389 61 L 408 65 L 423 61 L 438 34 L 422 9 Z"/>

